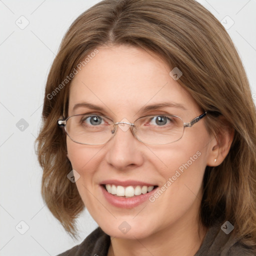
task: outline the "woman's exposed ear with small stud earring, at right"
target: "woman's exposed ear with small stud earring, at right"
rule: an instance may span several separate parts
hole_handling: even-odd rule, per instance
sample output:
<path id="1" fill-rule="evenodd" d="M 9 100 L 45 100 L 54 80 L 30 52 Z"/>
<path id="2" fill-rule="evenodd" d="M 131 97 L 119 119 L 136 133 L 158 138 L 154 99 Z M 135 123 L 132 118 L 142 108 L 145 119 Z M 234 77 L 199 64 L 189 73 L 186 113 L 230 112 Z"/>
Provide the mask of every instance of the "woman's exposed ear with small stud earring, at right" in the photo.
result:
<path id="1" fill-rule="evenodd" d="M 225 159 L 233 138 L 234 129 L 223 116 L 219 116 L 218 131 L 214 134 L 209 148 L 210 152 L 207 159 L 208 166 L 217 166 Z"/>

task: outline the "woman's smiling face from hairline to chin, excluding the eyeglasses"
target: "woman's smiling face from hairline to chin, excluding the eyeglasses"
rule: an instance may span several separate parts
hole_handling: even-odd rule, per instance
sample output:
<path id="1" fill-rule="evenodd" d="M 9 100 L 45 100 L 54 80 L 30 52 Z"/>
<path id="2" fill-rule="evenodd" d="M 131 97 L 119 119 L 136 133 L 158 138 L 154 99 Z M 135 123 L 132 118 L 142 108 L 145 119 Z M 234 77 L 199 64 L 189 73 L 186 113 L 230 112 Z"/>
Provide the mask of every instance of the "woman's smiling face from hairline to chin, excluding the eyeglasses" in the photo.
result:
<path id="1" fill-rule="evenodd" d="M 68 116 L 93 113 L 132 123 L 145 115 L 173 114 L 189 122 L 203 111 L 169 72 L 159 57 L 140 48 L 98 48 L 71 82 Z M 169 105 L 156 107 L 163 102 Z M 140 142 L 126 124 L 102 145 L 78 144 L 66 137 L 67 156 L 80 175 L 79 194 L 106 233 L 143 238 L 197 218 L 204 169 L 213 162 L 204 119 L 185 127 L 181 139 L 168 144 Z M 111 194 L 113 185 L 119 195 Z M 126 188 L 127 193 L 142 194 L 125 197 Z"/>

